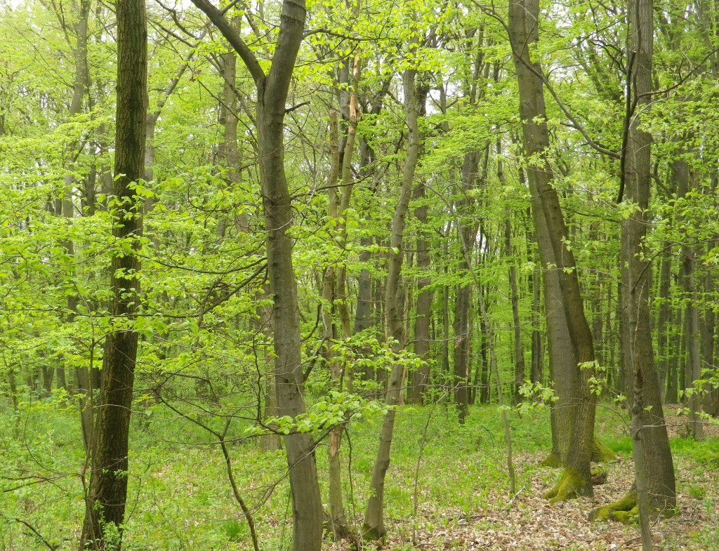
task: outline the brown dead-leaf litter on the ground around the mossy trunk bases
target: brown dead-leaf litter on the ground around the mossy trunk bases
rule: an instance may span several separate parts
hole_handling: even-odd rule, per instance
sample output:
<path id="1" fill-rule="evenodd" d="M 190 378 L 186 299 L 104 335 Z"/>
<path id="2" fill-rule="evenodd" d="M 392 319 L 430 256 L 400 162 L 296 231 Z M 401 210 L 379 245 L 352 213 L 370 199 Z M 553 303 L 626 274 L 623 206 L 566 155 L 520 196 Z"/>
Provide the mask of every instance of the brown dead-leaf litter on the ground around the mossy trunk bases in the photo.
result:
<path id="1" fill-rule="evenodd" d="M 666 412 L 669 435 L 686 435 L 687 418 L 677 408 Z M 719 437 L 719 425 L 706 425 L 705 436 Z M 675 440 L 676 442 L 676 440 Z M 719 445 L 716 453 L 719 454 Z M 545 454 L 546 455 L 546 454 Z M 718 455 L 719 457 L 719 455 Z M 534 470 L 544 455 L 518 453 L 514 457 L 518 479 L 528 468 Z M 503 468 L 503 466 L 499 466 Z M 619 522 L 590 522 L 589 512 L 622 498 L 633 482 L 631 454 L 618 453 L 605 466 L 606 483 L 594 488 L 594 496 L 549 504 L 542 497 L 557 471 L 541 469 L 540 476 L 520 488 L 508 503 L 497 490 L 495 499 L 482 500 L 485 506 L 474 514 L 442 511 L 435 506 L 418 506 L 416 519 L 389 519 L 386 550 L 487 550 L 487 551 L 621 551 L 641 550 L 637 526 Z M 677 473 L 677 513 L 654 519 L 651 527 L 654 550 L 719 550 L 719 464 L 693 458 L 674 458 Z M 505 491 L 506 494 L 506 491 Z M 345 551 L 346 542 L 332 547 Z M 372 548 L 372 547 L 370 547 Z"/>

